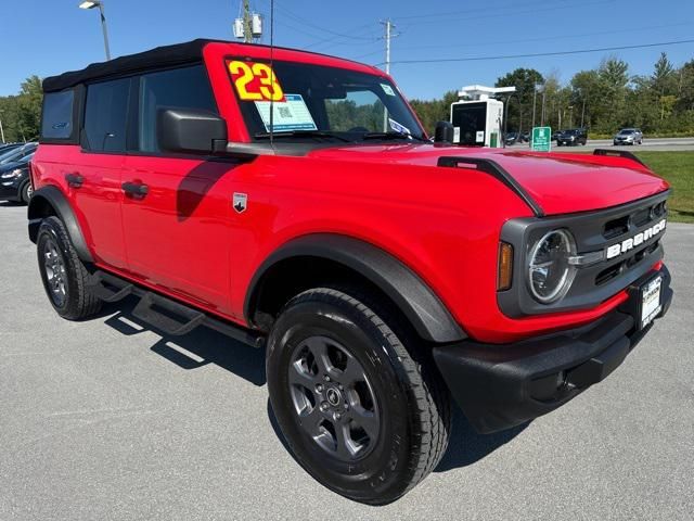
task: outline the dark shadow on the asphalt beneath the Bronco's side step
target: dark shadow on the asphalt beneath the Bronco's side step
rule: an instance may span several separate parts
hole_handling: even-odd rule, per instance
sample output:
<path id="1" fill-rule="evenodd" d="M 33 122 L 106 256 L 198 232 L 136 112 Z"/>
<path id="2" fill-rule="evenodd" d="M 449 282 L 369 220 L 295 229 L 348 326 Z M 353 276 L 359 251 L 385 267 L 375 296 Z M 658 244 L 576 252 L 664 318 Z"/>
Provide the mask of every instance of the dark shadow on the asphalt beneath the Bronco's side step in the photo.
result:
<path id="1" fill-rule="evenodd" d="M 104 323 L 127 336 L 153 331 L 160 336 L 151 351 L 182 369 L 191 370 L 215 364 L 254 385 L 265 385 L 265 350 L 250 347 L 217 331 L 201 327 L 181 336 L 167 335 L 132 315 L 137 297 L 128 297 L 117 305 L 104 305 L 100 316 Z"/>

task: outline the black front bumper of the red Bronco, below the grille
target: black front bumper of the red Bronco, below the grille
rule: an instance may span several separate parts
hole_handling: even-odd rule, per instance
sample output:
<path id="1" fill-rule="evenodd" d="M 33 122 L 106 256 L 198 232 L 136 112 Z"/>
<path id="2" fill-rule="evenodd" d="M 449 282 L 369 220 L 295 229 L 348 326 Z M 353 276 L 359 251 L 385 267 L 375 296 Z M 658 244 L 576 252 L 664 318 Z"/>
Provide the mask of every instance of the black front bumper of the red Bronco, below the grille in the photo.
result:
<path id="1" fill-rule="evenodd" d="M 672 301 L 665 266 L 663 317 Z M 639 331 L 637 298 L 647 276 L 629 288 L 629 300 L 600 319 L 569 331 L 494 345 L 464 341 L 434 347 L 444 380 L 473 427 L 489 433 L 518 425 L 566 404 L 614 371 L 653 327 Z"/>

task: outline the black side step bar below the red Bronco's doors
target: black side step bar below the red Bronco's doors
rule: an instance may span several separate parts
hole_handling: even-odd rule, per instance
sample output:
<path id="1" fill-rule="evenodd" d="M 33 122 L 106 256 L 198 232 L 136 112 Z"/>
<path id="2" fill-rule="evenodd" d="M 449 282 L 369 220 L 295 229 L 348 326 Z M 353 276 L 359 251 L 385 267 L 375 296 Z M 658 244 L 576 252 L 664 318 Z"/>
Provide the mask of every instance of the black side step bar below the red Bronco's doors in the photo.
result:
<path id="1" fill-rule="evenodd" d="M 128 295 L 139 296 L 140 302 L 132 310 L 132 315 L 165 334 L 179 336 L 190 333 L 198 326 L 205 326 L 253 347 L 264 345 L 265 336 L 260 333 L 218 320 L 193 307 L 147 291 L 105 271 L 95 271 L 88 284 L 89 290 L 104 302 L 118 302 Z"/>

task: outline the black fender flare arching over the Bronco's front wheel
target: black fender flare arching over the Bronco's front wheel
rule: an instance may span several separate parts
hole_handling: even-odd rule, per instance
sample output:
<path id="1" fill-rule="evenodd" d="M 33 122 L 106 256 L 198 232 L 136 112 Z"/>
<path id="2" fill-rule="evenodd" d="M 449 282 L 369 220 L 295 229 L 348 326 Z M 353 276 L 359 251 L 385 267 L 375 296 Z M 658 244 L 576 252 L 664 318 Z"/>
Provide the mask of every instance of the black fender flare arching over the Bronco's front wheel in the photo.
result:
<path id="1" fill-rule="evenodd" d="M 333 233 L 312 233 L 275 250 L 256 270 L 244 303 L 248 323 L 256 308 L 264 276 L 291 257 L 320 257 L 361 274 L 399 307 L 424 340 L 446 343 L 464 340 L 463 329 L 440 298 L 402 262 L 371 243 Z"/>

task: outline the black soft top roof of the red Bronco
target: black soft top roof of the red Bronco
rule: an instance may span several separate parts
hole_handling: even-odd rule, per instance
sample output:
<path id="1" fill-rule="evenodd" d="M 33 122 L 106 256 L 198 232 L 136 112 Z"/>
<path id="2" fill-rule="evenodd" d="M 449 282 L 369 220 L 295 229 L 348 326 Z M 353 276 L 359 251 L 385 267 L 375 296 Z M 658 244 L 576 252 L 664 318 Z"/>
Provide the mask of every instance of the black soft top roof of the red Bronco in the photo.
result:
<path id="1" fill-rule="evenodd" d="M 92 63 L 81 71 L 73 71 L 60 76 L 46 78 L 43 80 L 43 92 L 55 92 L 94 79 L 121 76 L 157 66 L 198 62 L 203 59 L 203 48 L 211 41 L 222 40 L 197 39 L 175 46 L 157 47 L 138 54 L 116 58 L 110 62 Z"/>

